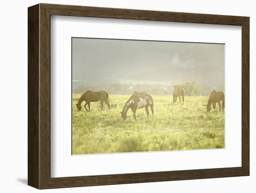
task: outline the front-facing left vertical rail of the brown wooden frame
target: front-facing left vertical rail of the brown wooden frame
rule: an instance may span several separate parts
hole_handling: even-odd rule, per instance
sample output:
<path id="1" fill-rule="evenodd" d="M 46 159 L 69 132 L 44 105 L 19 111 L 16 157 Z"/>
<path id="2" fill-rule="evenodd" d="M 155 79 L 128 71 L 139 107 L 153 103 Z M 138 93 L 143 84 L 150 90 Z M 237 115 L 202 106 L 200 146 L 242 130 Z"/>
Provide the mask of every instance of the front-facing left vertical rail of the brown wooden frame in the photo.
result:
<path id="1" fill-rule="evenodd" d="M 50 177 L 50 143 L 51 143 L 51 66 L 50 66 L 50 15 L 40 6 L 40 59 L 39 59 L 39 108 L 40 108 L 40 179 L 39 185 L 45 187 Z"/>

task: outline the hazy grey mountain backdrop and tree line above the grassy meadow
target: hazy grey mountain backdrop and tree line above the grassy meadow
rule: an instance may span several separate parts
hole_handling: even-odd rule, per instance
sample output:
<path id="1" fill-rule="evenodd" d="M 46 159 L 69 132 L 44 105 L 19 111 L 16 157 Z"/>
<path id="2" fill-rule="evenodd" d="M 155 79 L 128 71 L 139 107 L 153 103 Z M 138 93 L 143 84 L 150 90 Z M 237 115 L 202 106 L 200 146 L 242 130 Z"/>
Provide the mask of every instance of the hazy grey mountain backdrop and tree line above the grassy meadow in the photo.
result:
<path id="1" fill-rule="evenodd" d="M 224 91 L 224 45 L 73 38 L 72 83 L 74 93 L 171 95 L 178 85 L 208 96 Z"/>

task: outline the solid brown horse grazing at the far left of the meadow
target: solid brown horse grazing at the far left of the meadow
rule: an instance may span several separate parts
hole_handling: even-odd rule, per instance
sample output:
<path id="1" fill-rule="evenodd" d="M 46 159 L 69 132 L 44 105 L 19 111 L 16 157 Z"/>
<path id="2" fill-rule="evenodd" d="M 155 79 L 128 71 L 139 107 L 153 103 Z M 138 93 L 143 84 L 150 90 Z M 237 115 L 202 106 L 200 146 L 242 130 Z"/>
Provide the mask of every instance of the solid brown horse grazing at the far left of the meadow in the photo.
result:
<path id="1" fill-rule="evenodd" d="M 110 109 L 110 104 L 108 101 L 108 92 L 106 91 L 92 91 L 92 90 L 86 90 L 84 94 L 79 98 L 78 103 L 76 104 L 76 108 L 78 110 L 82 109 L 81 103 L 85 101 L 84 108 L 86 111 L 91 111 L 90 109 L 90 102 L 98 102 L 101 101 L 101 110 L 103 109 L 103 102 L 105 102 L 108 105 L 108 109 Z M 88 105 L 88 109 L 86 108 L 86 105 Z"/>

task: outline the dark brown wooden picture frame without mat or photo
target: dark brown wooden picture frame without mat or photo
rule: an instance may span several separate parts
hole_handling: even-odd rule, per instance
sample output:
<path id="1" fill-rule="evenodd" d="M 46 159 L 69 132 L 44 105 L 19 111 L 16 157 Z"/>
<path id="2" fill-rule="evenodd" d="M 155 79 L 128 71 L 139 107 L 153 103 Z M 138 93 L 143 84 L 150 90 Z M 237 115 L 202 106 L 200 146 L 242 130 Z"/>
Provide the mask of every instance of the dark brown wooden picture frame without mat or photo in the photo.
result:
<path id="1" fill-rule="evenodd" d="M 51 178 L 50 16 L 139 19 L 242 26 L 242 167 Z M 249 175 L 249 17 L 38 4 L 28 8 L 28 185 L 39 188 Z"/>

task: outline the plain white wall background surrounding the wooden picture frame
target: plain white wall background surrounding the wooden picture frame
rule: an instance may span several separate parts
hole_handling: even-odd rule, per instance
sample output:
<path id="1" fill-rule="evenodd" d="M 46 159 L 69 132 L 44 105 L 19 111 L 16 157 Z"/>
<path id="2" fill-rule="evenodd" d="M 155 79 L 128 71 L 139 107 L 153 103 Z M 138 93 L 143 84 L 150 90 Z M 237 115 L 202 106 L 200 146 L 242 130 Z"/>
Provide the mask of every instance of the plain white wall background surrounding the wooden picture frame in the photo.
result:
<path id="1" fill-rule="evenodd" d="M 255 96 L 256 68 L 253 66 L 253 47 L 256 39 L 254 1 L 243 0 L 22 0 L 2 1 L 0 7 L 0 190 L 1 192 L 37 192 L 27 184 L 27 7 L 37 3 L 105 6 L 130 9 L 148 9 L 174 12 L 211 13 L 250 17 L 250 76 L 251 99 Z M 15 91 L 13 91 L 15 90 Z M 254 93 L 253 93 L 254 92 Z M 256 167 L 253 158 L 256 139 L 252 122 L 251 100 L 251 169 L 249 177 L 186 180 L 158 183 L 128 184 L 101 187 L 78 187 L 40 192 L 247 192 L 255 191 Z M 5 190 L 5 191 L 3 191 Z"/>

